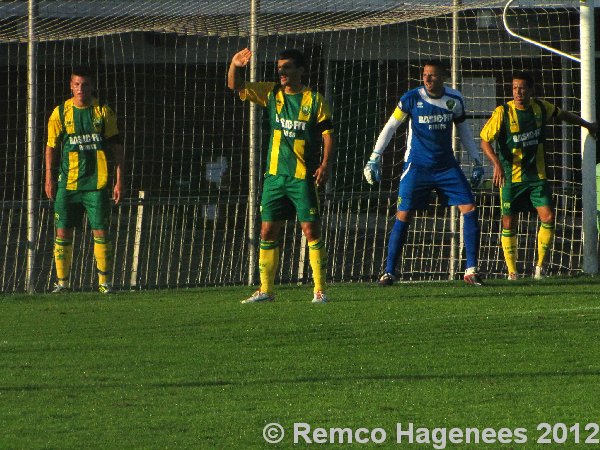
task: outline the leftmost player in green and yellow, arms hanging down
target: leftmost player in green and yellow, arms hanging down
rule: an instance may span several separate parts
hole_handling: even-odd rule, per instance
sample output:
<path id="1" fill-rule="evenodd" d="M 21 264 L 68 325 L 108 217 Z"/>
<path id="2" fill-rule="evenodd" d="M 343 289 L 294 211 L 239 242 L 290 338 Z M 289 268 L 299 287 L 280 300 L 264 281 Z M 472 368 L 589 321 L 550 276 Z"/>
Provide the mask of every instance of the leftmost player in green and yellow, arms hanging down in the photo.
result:
<path id="1" fill-rule="evenodd" d="M 89 68 L 71 72 L 72 97 L 58 105 L 48 121 L 45 191 L 54 200 L 54 262 L 57 283 L 54 293 L 70 290 L 69 273 L 73 254 L 73 228 L 81 223 L 83 212 L 94 235 L 94 256 L 102 294 L 112 289 L 112 248 L 108 236 L 110 194 L 107 188 L 108 151 L 116 166 L 113 199 L 123 196 L 123 147 L 115 113 L 93 97 L 94 78 Z M 55 179 L 56 160 L 58 183 Z"/>

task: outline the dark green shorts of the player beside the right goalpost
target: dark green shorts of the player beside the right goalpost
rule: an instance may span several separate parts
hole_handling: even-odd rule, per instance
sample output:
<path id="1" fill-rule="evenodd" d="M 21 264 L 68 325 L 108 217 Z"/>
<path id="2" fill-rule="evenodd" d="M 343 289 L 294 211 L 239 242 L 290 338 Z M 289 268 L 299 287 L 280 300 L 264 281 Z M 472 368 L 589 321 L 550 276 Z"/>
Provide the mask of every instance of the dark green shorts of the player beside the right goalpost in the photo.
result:
<path id="1" fill-rule="evenodd" d="M 547 180 L 506 183 L 500 188 L 503 216 L 527 212 L 540 206 L 552 206 L 552 191 Z"/>

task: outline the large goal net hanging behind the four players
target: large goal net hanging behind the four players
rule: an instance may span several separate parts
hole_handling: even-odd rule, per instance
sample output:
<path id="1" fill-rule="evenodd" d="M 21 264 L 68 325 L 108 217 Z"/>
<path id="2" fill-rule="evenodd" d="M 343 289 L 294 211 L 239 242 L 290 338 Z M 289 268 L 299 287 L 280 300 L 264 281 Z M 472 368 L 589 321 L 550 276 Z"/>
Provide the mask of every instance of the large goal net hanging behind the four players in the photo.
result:
<path id="1" fill-rule="evenodd" d="M 258 78 L 274 80 L 275 54 L 299 48 L 310 61 L 306 83 L 333 110 L 337 156 L 322 198 L 328 279 L 372 280 L 385 264 L 394 220 L 406 131 L 399 129 L 383 158 L 383 179 L 370 187 L 362 169 L 400 96 L 420 83 L 421 64 L 454 67 L 469 124 L 479 131 L 493 109 L 511 97 L 510 75 L 532 70 L 538 94 L 560 108 L 580 108 L 579 66 L 511 38 L 502 26 L 503 2 L 491 0 L 40 0 L 28 28 L 28 4 L 0 3 L 0 291 L 25 289 L 26 260 L 34 252 L 36 290 L 54 280 L 52 205 L 43 189 L 46 124 L 69 98 L 74 65 L 90 65 L 98 96 L 117 114 L 126 152 L 126 199 L 113 208 L 114 284 L 126 289 L 247 283 L 250 235 L 258 211 L 249 211 L 249 112 L 226 88 L 231 56 L 249 45 L 253 20 Z M 507 19 L 529 38 L 578 52 L 577 2 L 519 2 Z M 31 33 L 33 30 L 33 34 Z M 28 66 L 31 36 L 35 67 Z M 27 165 L 27 74 L 37 74 L 35 118 L 38 169 Z M 261 172 L 268 130 L 262 126 Z M 556 204 L 554 273 L 580 271 L 581 158 L 579 133 L 555 124 L 548 140 L 549 175 Z M 478 144 L 478 142 L 477 142 Z M 465 172 L 468 156 L 456 146 Z M 500 248 L 497 189 L 476 191 L 482 224 L 481 270 L 505 272 Z M 39 200 L 35 242 L 27 241 L 28 183 Z M 435 199 L 435 197 L 434 197 Z M 31 213 L 31 212 L 30 212 Z M 520 270 L 534 261 L 537 217 L 519 218 Z M 307 282 L 305 243 L 297 223 L 281 236 L 279 282 Z M 458 276 L 460 220 L 436 200 L 410 229 L 399 275 L 406 280 Z M 31 254 L 31 253 L 30 253 Z M 76 231 L 71 281 L 96 283 L 91 230 Z"/>

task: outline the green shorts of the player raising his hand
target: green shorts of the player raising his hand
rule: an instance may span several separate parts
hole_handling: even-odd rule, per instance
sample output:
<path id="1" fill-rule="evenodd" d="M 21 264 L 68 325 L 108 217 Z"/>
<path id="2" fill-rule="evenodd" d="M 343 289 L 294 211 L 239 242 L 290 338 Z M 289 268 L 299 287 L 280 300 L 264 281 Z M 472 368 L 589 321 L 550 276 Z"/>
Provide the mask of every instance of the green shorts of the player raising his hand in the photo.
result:
<path id="1" fill-rule="evenodd" d="M 263 222 L 294 219 L 319 220 L 319 199 L 314 182 L 286 175 L 265 175 L 260 214 Z"/>

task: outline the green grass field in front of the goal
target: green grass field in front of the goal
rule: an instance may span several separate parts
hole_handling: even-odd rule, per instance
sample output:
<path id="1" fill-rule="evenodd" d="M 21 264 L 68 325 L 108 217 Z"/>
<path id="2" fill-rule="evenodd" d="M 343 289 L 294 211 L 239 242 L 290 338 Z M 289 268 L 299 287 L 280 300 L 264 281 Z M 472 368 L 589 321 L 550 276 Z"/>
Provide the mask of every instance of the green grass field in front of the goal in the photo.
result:
<path id="1" fill-rule="evenodd" d="M 540 422 L 594 438 L 600 279 L 250 292 L 0 297 L 0 448 L 289 448 L 298 422 L 382 428 L 378 448 L 442 448 L 398 444 L 397 423 L 527 430 L 446 448 L 537 448 Z M 574 439 L 545 448 L 590 447 Z"/>

